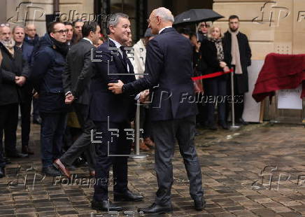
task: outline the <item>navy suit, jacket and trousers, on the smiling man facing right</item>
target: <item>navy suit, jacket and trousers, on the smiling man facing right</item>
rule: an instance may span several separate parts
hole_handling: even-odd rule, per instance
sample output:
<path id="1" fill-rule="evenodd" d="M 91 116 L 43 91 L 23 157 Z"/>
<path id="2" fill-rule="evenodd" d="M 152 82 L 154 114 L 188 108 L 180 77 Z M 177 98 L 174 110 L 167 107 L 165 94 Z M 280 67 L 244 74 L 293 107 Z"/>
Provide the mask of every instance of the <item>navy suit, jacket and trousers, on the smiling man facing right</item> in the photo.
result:
<path id="1" fill-rule="evenodd" d="M 134 95 L 115 95 L 108 90 L 108 83 L 129 83 L 136 80 L 132 63 L 124 62 L 118 50 L 113 50 L 115 43 L 109 40 L 97 48 L 94 55 L 94 76 L 91 84 L 90 118 L 97 127 L 101 144 L 97 145 L 96 178 L 100 180 L 94 186 L 94 200 L 108 199 L 109 169 L 113 165 L 115 179 L 114 190 L 127 190 L 127 157 L 109 157 L 111 155 L 129 155 L 131 140 L 126 137 L 126 129 L 130 129 L 130 121 L 134 118 L 136 104 Z M 127 70 L 127 64 L 129 71 Z M 108 70 L 109 69 L 109 70 Z M 111 74 L 110 74 L 111 73 Z M 120 75 L 125 73 L 127 75 Z M 109 121 L 108 121 L 109 120 Z M 112 136 L 108 129 L 117 129 L 118 137 Z M 108 148 L 109 142 L 109 148 Z M 109 149 L 109 150 L 108 150 Z"/>

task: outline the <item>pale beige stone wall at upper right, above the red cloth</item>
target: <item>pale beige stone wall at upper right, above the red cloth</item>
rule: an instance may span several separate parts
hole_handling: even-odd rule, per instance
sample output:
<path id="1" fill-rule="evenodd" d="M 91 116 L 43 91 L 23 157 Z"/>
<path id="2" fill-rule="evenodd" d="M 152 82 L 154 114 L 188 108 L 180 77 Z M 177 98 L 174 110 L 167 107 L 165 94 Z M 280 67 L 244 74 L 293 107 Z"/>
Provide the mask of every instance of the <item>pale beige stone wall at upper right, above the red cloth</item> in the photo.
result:
<path id="1" fill-rule="evenodd" d="M 249 38 L 253 59 L 264 59 L 269 52 L 305 53 L 304 0 L 214 0 L 213 10 L 225 16 L 215 22 L 223 31 L 228 28 L 229 15 L 239 15 L 240 30 Z"/>

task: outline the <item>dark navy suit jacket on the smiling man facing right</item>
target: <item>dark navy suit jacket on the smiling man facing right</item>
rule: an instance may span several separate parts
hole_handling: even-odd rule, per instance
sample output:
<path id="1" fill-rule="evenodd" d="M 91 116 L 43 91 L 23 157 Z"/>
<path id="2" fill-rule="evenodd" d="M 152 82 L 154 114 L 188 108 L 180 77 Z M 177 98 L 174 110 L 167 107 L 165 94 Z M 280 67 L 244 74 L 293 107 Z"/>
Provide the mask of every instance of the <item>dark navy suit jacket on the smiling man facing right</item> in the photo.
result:
<path id="1" fill-rule="evenodd" d="M 110 122 L 122 123 L 134 118 L 136 111 L 134 95 L 113 94 L 111 90 L 108 90 L 108 83 L 117 83 L 118 80 L 129 83 L 136 78 L 129 59 L 127 60 L 129 74 L 119 74 L 128 73 L 127 66 L 123 63 L 118 50 L 109 48 L 115 48 L 115 44 L 111 40 L 99 46 L 94 55 L 94 61 L 100 62 L 94 62 L 93 64 L 94 76 L 91 84 L 90 118 L 94 121 L 106 122 L 109 116 Z"/>

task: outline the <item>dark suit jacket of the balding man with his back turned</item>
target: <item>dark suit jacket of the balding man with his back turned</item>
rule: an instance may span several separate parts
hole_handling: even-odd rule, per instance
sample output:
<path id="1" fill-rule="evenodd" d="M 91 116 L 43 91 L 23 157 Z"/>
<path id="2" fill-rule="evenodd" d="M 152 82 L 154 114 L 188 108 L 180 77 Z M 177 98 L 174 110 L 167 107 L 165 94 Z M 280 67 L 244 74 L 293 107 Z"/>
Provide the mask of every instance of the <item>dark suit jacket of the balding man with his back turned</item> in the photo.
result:
<path id="1" fill-rule="evenodd" d="M 174 28 L 164 29 L 146 48 L 147 76 L 127 83 L 123 92 L 151 89 L 152 120 L 173 120 L 197 114 L 194 103 L 192 45 Z"/>

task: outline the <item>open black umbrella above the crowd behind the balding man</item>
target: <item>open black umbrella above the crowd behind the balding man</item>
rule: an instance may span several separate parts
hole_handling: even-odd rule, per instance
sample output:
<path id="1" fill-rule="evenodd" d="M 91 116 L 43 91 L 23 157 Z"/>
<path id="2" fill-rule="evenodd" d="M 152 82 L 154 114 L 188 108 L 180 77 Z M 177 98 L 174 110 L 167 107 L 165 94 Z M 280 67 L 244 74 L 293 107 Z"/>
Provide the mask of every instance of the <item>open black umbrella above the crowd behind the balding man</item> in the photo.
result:
<path id="1" fill-rule="evenodd" d="M 176 15 L 173 25 L 192 24 L 204 21 L 215 21 L 224 18 L 219 13 L 211 9 L 190 9 Z"/>

